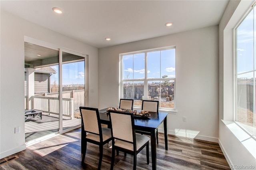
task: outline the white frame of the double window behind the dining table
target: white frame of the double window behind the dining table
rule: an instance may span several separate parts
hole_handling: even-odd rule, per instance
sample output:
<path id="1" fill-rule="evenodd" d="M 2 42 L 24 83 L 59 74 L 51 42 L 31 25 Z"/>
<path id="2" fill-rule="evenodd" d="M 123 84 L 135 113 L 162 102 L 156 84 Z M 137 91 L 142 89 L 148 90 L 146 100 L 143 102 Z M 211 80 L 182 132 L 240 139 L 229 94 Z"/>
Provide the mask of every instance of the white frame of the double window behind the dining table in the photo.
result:
<path id="1" fill-rule="evenodd" d="M 160 48 L 154 48 L 154 49 L 146 49 L 141 51 L 133 51 L 128 53 L 120 53 L 119 54 L 119 99 L 122 99 L 124 97 L 124 91 L 123 91 L 123 81 L 144 81 L 144 92 L 148 91 L 148 81 L 174 81 L 174 94 L 176 96 L 176 72 L 175 72 L 175 78 L 157 78 L 157 79 L 148 79 L 147 74 L 147 53 L 154 52 L 154 51 L 163 51 L 168 49 L 175 49 L 175 70 L 176 70 L 176 46 L 168 46 L 168 47 L 160 47 Z M 124 55 L 135 55 L 138 53 L 144 53 L 145 54 L 145 78 L 144 79 L 127 79 L 123 80 L 123 65 L 122 65 L 122 56 Z M 162 111 L 174 111 L 176 112 L 176 97 L 174 97 L 174 108 L 163 108 L 159 107 L 159 110 Z M 146 99 L 145 99 L 146 100 Z M 141 106 L 134 105 L 134 108 L 141 108 Z"/>

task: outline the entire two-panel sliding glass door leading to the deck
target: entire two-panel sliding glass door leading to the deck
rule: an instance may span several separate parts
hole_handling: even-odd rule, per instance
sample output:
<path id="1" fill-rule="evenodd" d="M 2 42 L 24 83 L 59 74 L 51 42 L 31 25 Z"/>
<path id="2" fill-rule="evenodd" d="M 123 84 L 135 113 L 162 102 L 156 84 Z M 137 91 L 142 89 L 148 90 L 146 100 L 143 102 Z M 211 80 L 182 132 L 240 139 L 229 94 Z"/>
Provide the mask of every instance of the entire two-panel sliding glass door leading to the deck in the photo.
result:
<path id="1" fill-rule="evenodd" d="M 85 55 L 25 42 L 26 142 L 81 125 L 85 106 Z"/>

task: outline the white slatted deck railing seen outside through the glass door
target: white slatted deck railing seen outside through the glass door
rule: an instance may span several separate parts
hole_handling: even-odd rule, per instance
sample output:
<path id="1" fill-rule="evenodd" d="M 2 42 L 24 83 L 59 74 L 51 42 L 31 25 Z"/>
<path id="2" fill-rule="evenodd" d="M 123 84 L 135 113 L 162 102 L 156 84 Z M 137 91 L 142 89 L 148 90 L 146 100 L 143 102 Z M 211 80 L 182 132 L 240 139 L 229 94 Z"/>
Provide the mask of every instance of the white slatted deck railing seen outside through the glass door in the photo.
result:
<path id="1" fill-rule="evenodd" d="M 59 115 L 59 98 L 49 96 L 33 96 L 32 108 L 45 113 Z M 74 99 L 62 98 L 63 101 L 63 116 L 74 119 Z"/>

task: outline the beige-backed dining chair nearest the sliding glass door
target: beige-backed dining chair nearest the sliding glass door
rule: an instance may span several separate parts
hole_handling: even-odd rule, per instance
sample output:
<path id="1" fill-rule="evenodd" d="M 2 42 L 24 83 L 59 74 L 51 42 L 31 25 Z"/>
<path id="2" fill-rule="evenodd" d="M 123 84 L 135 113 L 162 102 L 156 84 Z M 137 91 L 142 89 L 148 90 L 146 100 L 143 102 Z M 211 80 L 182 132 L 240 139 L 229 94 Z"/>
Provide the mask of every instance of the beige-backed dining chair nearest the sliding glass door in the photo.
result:
<path id="1" fill-rule="evenodd" d="M 110 128 L 101 127 L 100 114 L 97 108 L 90 107 L 79 107 L 82 117 L 82 142 L 81 146 L 84 145 L 82 149 L 82 164 L 84 164 L 84 159 L 86 155 L 87 142 L 97 144 L 100 148 L 100 158 L 98 164 L 98 170 L 100 170 L 102 157 L 103 157 L 103 145 L 112 140 Z"/>

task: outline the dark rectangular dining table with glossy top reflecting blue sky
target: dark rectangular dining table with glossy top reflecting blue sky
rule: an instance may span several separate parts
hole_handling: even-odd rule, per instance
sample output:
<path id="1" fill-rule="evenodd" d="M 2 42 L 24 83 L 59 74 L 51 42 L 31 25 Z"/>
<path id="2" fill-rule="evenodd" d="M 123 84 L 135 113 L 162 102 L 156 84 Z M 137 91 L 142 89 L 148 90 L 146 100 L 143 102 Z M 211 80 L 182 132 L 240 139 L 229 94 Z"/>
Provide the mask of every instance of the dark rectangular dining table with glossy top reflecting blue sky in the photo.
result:
<path id="1" fill-rule="evenodd" d="M 110 127 L 110 120 L 108 117 L 107 108 L 99 110 L 100 122 Z M 156 170 L 156 135 L 158 127 L 164 123 L 164 143 L 165 150 L 168 150 L 167 138 L 167 115 L 165 112 L 149 112 L 150 117 L 134 116 L 134 128 L 138 131 L 148 132 L 151 142 L 151 157 L 152 157 L 152 170 Z"/>

